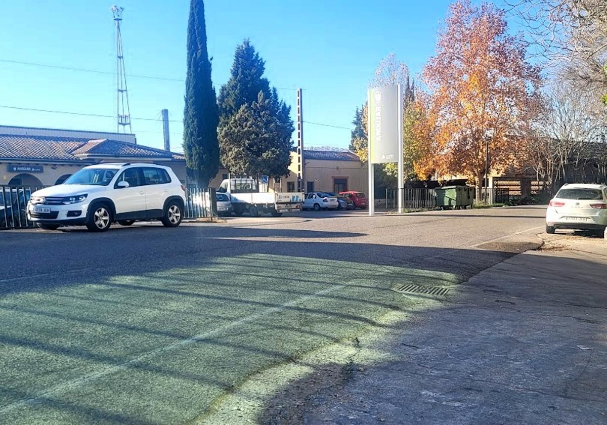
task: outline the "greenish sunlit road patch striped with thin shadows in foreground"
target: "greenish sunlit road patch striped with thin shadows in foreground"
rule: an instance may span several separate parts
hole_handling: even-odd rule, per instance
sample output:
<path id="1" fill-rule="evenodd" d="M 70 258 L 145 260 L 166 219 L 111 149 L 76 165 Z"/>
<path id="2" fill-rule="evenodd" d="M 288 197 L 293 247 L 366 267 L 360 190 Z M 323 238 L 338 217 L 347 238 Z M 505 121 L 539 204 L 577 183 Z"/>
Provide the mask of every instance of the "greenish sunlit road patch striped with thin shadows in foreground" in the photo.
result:
<path id="1" fill-rule="evenodd" d="M 251 254 L 0 300 L 0 423 L 181 423 L 446 273 Z"/>

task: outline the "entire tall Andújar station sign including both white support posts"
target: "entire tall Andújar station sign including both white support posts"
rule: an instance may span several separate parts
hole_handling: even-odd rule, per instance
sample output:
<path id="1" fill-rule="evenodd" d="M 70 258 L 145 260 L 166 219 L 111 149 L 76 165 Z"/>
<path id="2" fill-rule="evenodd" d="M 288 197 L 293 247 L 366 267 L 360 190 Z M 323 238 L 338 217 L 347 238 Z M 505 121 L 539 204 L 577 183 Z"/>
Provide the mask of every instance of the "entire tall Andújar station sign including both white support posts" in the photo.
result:
<path id="1" fill-rule="evenodd" d="M 375 164 L 398 163 L 398 211 L 404 191 L 401 85 L 368 90 L 369 215 L 375 214 Z"/>

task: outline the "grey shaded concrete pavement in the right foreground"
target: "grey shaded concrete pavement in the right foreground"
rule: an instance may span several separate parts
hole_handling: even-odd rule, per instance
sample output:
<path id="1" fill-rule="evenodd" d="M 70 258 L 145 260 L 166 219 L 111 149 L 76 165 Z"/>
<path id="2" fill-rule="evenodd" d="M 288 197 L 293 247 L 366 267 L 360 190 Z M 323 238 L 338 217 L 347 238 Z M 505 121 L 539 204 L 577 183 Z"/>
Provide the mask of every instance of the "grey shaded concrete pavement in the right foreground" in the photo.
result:
<path id="1" fill-rule="evenodd" d="M 303 398 L 278 396 L 262 417 L 307 424 L 607 423 L 607 246 L 571 234 L 543 237 L 540 251 L 482 271 L 393 338 L 362 342 L 353 373 Z M 369 364 L 368 350 L 388 353 L 388 360 Z"/>

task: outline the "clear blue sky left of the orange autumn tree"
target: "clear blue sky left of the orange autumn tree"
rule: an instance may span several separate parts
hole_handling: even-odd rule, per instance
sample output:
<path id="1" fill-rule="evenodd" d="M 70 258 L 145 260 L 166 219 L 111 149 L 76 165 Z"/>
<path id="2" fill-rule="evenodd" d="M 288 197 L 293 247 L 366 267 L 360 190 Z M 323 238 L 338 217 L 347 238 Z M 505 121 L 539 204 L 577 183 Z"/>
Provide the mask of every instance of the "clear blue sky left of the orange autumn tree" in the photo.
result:
<path id="1" fill-rule="evenodd" d="M 123 0 L 123 42 L 129 74 L 183 80 L 189 1 Z M 25 66 L 50 64 L 112 72 L 112 0 L 3 2 L 0 14 L 0 105 L 115 115 L 110 74 Z M 266 76 L 293 105 L 304 89 L 304 119 L 351 127 L 378 62 L 388 53 L 419 73 L 434 52 L 436 30 L 449 1 L 362 0 L 205 1 L 213 83 L 229 77 L 234 49 L 250 38 L 266 61 Z M 183 81 L 128 77 L 131 115 L 183 117 Z M 0 108 L 0 124 L 115 131 L 115 118 Z M 162 147 L 160 121 L 133 120 L 138 142 Z M 171 122 L 171 146 L 181 150 L 181 122 Z M 307 124 L 308 146 L 350 142 L 348 129 Z"/>

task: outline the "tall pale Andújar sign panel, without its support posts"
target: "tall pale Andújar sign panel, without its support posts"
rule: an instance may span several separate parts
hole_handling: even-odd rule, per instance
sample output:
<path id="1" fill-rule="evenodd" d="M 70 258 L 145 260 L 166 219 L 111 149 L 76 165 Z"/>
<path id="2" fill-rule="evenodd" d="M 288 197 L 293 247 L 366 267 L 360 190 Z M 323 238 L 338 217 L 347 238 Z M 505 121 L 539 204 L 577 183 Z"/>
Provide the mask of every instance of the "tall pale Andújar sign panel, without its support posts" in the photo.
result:
<path id="1" fill-rule="evenodd" d="M 397 162 L 399 152 L 398 86 L 369 89 L 369 157 L 371 164 Z M 401 142 L 402 143 L 402 142 Z"/>

